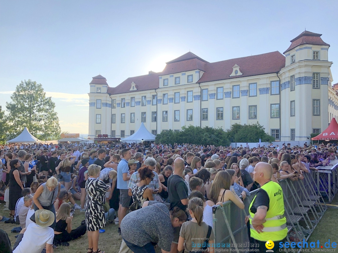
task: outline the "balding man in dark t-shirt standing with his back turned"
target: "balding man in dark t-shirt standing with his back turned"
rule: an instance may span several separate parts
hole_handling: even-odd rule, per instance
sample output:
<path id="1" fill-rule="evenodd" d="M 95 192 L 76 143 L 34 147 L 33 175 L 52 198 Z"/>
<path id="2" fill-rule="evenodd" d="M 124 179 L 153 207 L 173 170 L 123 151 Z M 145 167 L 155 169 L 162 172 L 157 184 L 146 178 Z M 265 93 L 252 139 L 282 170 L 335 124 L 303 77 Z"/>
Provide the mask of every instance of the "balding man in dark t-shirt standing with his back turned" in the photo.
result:
<path id="1" fill-rule="evenodd" d="M 183 179 L 184 160 L 176 158 L 174 161 L 174 173 L 168 178 L 168 195 L 170 199 L 170 210 L 178 207 L 184 212 L 188 207 L 188 186 Z M 188 215 L 187 215 L 188 217 Z M 180 227 L 174 228 L 174 238 L 171 244 L 170 253 L 176 253 Z"/>

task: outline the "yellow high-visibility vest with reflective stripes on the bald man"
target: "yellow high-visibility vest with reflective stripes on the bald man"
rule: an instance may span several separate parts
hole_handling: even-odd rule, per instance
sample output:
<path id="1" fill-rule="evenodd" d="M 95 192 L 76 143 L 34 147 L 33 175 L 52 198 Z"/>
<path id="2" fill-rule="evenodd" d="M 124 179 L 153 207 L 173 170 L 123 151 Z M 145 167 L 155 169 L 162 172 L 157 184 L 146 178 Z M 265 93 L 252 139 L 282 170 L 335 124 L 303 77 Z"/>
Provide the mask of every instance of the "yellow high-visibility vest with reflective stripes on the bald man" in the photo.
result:
<path id="1" fill-rule="evenodd" d="M 251 201 L 249 206 L 251 237 L 263 242 L 268 240 L 283 240 L 288 233 L 288 229 L 286 227 L 286 218 L 284 215 L 284 197 L 282 188 L 276 182 L 269 181 L 264 184 L 261 189 L 266 191 L 269 196 L 269 210 L 266 213 L 266 222 L 263 223 L 263 233 L 258 233 L 252 226 L 252 218 L 254 218 L 255 214 L 250 210 L 256 196 Z"/>

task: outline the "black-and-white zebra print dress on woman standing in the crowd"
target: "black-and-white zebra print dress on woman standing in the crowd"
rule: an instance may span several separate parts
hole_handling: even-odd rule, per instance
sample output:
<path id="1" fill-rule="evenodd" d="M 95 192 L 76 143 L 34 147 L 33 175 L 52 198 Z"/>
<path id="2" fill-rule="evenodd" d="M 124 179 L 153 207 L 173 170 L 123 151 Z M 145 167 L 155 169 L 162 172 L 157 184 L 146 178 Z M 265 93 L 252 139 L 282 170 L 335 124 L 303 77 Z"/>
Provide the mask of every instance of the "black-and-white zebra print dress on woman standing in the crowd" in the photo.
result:
<path id="1" fill-rule="evenodd" d="M 109 187 L 101 180 L 88 178 L 86 181 L 86 201 L 85 221 L 88 231 L 96 231 L 105 226 L 105 216 L 103 205 L 105 202 L 105 192 Z"/>

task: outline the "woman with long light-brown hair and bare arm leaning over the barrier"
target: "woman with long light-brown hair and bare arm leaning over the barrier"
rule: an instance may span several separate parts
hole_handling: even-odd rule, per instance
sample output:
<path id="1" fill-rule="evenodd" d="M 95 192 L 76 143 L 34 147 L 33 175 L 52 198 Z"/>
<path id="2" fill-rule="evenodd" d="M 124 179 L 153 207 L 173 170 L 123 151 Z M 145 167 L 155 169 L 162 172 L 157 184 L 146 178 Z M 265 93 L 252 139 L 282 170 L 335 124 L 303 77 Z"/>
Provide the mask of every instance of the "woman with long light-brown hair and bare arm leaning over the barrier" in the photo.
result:
<path id="1" fill-rule="evenodd" d="M 237 196 L 234 190 L 230 191 L 230 186 L 231 186 L 230 174 L 226 170 L 219 171 L 216 174 L 210 189 L 211 200 L 214 203 L 217 203 L 219 201 L 224 203 L 228 200 L 231 200 L 239 208 L 244 209 L 243 201 Z"/>

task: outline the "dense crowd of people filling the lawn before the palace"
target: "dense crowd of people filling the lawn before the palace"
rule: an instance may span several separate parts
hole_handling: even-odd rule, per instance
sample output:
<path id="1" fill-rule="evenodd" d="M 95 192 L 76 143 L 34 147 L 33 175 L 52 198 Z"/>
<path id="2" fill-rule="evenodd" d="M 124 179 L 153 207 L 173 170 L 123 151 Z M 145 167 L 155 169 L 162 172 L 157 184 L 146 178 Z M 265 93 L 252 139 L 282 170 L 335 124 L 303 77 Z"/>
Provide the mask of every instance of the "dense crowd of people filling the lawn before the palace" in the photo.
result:
<path id="1" fill-rule="evenodd" d="M 25 231 L 43 227 L 44 235 L 38 233 L 41 245 L 31 251 L 39 253 L 44 247 L 53 252 L 53 244 L 67 246 L 86 231 L 87 252 L 100 253 L 99 231 L 106 220 L 118 223 L 123 238 L 120 252 L 154 252 L 156 244 L 165 252 L 199 250 L 203 242 L 214 242 L 212 206 L 231 200 L 243 209 L 243 200 L 260 188 L 249 209 L 253 219 L 246 219 L 248 231 L 256 236 L 255 231 L 264 227 L 257 223 L 256 213 L 264 212 L 261 206 L 269 207 L 262 199 L 271 185 L 276 188 L 274 184 L 284 178 L 302 180 L 304 173 L 337 159 L 334 145 L 306 143 L 281 148 L 272 144 L 257 148 L 176 143 L 13 144 L 0 149 L 0 200 L 6 202 L 10 218 L 0 221 L 21 225 L 22 235 L 13 252 L 24 252 L 20 249 L 29 239 Z M 76 229 L 72 229 L 73 209 L 85 213 Z M 158 222 L 150 222 L 153 219 Z M 280 237 L 275 241 L 284 238 Z M 260 241 L 260 236 L 253 238 Z"/>

